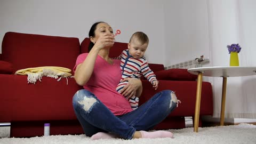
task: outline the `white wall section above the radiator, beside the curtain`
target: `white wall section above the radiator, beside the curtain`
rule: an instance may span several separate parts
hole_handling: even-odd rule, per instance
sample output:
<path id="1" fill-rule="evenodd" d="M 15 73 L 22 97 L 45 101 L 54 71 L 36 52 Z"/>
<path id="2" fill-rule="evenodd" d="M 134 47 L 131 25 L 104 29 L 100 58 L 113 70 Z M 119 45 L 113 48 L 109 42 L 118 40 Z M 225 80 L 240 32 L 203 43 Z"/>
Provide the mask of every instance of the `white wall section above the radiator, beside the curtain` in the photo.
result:
<path id="1" fill-rule="evenodd" d="M 210 57 L 205 0 L 165 1 L 166 65 Z"/>

